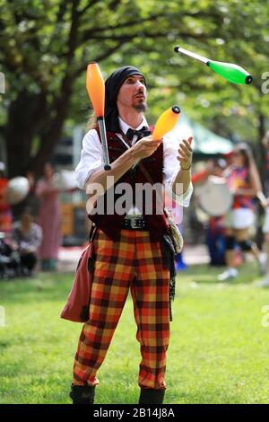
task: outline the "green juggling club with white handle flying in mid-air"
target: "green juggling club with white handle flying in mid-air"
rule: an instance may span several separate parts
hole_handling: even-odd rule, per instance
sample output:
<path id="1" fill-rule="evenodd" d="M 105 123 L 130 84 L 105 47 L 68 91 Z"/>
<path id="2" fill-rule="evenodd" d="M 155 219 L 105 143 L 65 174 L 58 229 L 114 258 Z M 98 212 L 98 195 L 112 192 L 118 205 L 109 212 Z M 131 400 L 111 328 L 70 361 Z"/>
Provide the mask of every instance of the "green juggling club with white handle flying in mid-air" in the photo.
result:
<path id="1" fill-rule="evenodd" d="M 209 66 L 213 72 L 221 75 L 227 81 L 233 84 L 251 84 L 252 76 L 247 73 L 242 67 L 233 65 L 232 63 L 223 63 L 210 60 L 209 58 L 200 56 L 199 54 L 192 53 L 185 48 L 175 47 L 176 53 L 182 53 L 186 56 L 193 57 L 204 65 Z"/>

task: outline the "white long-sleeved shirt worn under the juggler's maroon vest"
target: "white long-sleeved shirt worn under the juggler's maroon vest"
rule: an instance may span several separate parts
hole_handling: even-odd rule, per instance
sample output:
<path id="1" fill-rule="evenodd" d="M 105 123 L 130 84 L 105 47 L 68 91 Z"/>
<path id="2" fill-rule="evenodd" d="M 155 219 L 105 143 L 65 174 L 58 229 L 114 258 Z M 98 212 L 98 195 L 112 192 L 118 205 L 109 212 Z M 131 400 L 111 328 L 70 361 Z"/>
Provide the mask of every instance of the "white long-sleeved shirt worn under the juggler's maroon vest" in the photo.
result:
<path id="1" fill-rule="evenodd" d="M 130 128 L 122 119 L 118 118 L 119 126 L 124 134 Z M 148 126 L 147 121 L 143 118 L 143 122 L 139 127 L 135 127 L 135 130 L 141 129 L 143 126 Z M 134 127 L 131 127 L 134 129 Z M 123 139 L 121 134 L 117 134 L 121 141 L 130 148 L 126 141 Z M 134 136 L 132 145 L 134 145 L 137 136 Z M 178 156 L 178 142 L 172 136 L 171 133 L 163 137 L 163 183 L 172 186 L 178 171 L 180 169 L 180 163 L 177 159 Z M 75 176 L 78 187 L 85 189 L 86 181 L 91 177 L 94 171 L 102 170 L 104 166 L 102 145 L 100 138 L 95 129 L 89 130 L 82 140 L 82 154 L 81 160 L 75 169 Z M 193 185 L 189 184 L 187 191 L 181 195 L 173 194 L 173 199 L 181 206 L 188 207 L 189 201 L 193 193 Z M 134 211 L 132 211 L 134 212 Z M 130 213 L 128 213 L 130 214 Z"/>

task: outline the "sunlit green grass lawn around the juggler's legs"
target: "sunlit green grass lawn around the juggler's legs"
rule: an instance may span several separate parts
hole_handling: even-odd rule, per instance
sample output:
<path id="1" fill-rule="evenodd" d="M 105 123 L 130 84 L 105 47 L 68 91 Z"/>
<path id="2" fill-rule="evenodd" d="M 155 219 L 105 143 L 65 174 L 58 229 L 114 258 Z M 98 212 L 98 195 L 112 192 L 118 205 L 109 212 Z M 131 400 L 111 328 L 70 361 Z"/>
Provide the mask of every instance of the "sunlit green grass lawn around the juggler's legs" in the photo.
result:
<path id="1" fill-rule="evenodd" d="M 255 286 L 247 263 L 237 281 L 216 282 L 218 268 L 178 276 L 167 365 L 166 403 L 268 403 L 269 289 Z M 74 353 L 82 325 L 59 313 L 72 274 L 40 273 L 0 281 L 0 403 L 70 403 Z M 96 403 L 137 403 L 139 344 L 126 303 L 104 364 Z"/>

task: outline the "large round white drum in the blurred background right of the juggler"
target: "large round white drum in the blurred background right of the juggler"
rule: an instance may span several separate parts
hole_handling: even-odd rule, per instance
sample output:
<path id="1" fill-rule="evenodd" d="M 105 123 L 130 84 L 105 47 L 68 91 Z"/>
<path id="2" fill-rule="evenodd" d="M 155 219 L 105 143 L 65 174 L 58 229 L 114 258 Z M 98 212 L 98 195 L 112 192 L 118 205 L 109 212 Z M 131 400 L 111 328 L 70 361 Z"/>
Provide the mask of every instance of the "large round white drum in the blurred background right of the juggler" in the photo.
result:
<path id="1" fill-rule="evenodd" d="M 204 212 L 213 216 L 225 215 L 233 202 L 226 179 L 218 176 L 208 177 L 199 189 L 198 198 Z"/>

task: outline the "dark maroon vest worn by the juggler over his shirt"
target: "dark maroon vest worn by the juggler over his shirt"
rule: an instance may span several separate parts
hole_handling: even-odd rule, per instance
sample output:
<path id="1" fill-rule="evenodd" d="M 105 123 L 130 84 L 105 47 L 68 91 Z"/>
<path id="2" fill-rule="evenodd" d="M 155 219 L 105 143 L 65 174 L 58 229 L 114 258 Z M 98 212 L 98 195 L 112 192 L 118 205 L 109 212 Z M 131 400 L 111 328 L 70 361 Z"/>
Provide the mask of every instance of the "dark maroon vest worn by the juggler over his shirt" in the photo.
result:
<path id="1" fill-rule="evenodd" d="M 99 133 L 99 130 L 97 129 Z M 126 145 L 121 141 L 121 139 L 113 132 L 107 132 L 108 140 L 108 155 L 109 163 L 113 163 L 117 158 L 124 154 L 127 150 Z M 162 168 L 163 168 L 163 145 L 161 144 L 157 150 L 147 158 L 141 160 L 143 167 L 150 174 L 153 183 L 162 183 Z M 117 180 L 117 183 L 111 189 L 116 189 L 118 183 L 129 183 L 133 186 L 135 183 L 151 183 L 149 179 L 144 175 L 141 168 L 136 166 L 135 171 L 130 169 Z M 151 183 L 152 184 L 152 183 Z M 120 195 L 117 195 L 114 191 L 115 202 Z M 107 192 L 104 195 L 104 203 L 106 204 Z M 153 201 L 153 204 L 155 201 Z M 156 204 L 155 204 L 156 205 Z M 148 230 L 150 231 L 150 236 L 152 242 L 159 242 L 164 233 L 168 230 L 168 223 L 166 217 L 163 214 L 156 214 L 156 207 L 152 207 L 152 215 L 146 214 L 143 207 L 143 217 L 147 224 Z M 90 220 L 97 225 L 104 233 L 108 235 L 113 241 L 118 241 L 120 238 L 120 231 L 122 230 L 123 220 L 126 214 L 118 215 L 114 213 L 113 215 L 108 214 L 94 214 L 88 215 Z"/>

